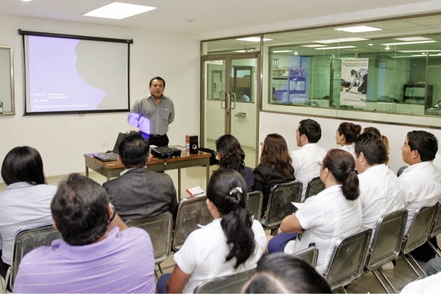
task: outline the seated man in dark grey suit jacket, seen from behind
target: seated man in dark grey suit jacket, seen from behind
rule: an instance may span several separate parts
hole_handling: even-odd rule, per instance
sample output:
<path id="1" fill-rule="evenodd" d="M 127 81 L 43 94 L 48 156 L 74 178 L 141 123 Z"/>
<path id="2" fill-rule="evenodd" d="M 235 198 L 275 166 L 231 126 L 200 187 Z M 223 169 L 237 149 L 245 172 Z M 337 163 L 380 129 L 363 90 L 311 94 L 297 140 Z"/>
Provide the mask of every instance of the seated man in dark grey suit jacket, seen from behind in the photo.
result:
<path id="1" fill-rule="evenodd" d="M 176 218 L 178 202 L 172 178 L 149 171 L 150 145 L 141 134 L 130 132 L 119 145 L 121 176 L 103 184 L 122 220 L 135 220 L 170 211 Z"/>

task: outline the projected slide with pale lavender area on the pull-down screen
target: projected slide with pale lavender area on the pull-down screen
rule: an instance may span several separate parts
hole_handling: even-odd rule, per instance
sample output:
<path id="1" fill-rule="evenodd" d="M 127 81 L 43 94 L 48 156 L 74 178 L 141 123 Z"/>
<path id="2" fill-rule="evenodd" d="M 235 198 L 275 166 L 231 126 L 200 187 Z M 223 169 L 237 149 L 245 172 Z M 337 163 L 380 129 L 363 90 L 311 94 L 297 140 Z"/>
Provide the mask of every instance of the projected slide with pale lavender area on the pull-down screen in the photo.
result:
<path id="1" fill-rule="evenodd" d="M 26 114 L 129 107 L 128 45 L 25 36 Z"/>

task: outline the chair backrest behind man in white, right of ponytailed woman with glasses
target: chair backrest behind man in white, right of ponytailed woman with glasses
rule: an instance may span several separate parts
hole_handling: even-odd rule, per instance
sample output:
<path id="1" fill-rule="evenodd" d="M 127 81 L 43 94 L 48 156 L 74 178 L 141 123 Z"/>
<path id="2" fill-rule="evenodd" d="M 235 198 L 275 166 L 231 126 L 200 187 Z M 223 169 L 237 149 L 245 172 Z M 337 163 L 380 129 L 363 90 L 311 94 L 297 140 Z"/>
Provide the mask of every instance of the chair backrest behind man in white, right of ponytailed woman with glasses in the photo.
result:
<path id="1" fill-rule="evenodd" d="M 366 263 L 369 271 L 378 269 L 385 262 L 395 260 L 400 254 L 406 222 L 406 209 L 389 213 L 378 220 Z"/>

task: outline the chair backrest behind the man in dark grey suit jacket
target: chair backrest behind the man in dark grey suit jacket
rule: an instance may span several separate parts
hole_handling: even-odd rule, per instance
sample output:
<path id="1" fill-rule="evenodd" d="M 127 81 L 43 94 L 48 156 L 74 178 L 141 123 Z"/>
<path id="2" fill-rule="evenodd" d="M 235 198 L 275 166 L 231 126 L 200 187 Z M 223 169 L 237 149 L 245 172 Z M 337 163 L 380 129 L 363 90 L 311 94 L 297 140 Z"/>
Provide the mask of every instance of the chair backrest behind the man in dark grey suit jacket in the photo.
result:
<path id="1" fill-rule="evenodd" d="M 139 220 L 127 220 L 129 227 L 139 227 L 150 235 L 154 250 L 154 262 L 160 264 L 168 258 L 172 249 L 173 216 L 170 212 L 141 218 Z"/>

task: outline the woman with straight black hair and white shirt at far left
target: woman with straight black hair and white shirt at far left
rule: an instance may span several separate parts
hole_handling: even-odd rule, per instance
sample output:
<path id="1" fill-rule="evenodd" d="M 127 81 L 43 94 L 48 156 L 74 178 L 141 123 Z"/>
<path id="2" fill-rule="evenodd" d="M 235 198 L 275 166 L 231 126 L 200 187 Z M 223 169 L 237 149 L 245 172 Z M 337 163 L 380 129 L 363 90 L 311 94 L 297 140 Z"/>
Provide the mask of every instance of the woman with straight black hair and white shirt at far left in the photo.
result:
<path id="1" fill-rule="evenodd" d="M 51 224 L 50 202 L 57 187 L 46 185 L 39 151 L 28 146 L 15 147 L 6 154 L 1 177 L 8 185 L 0 193 L 0 273 L 4 278 L 15 235 L 23 229 Z"/>

